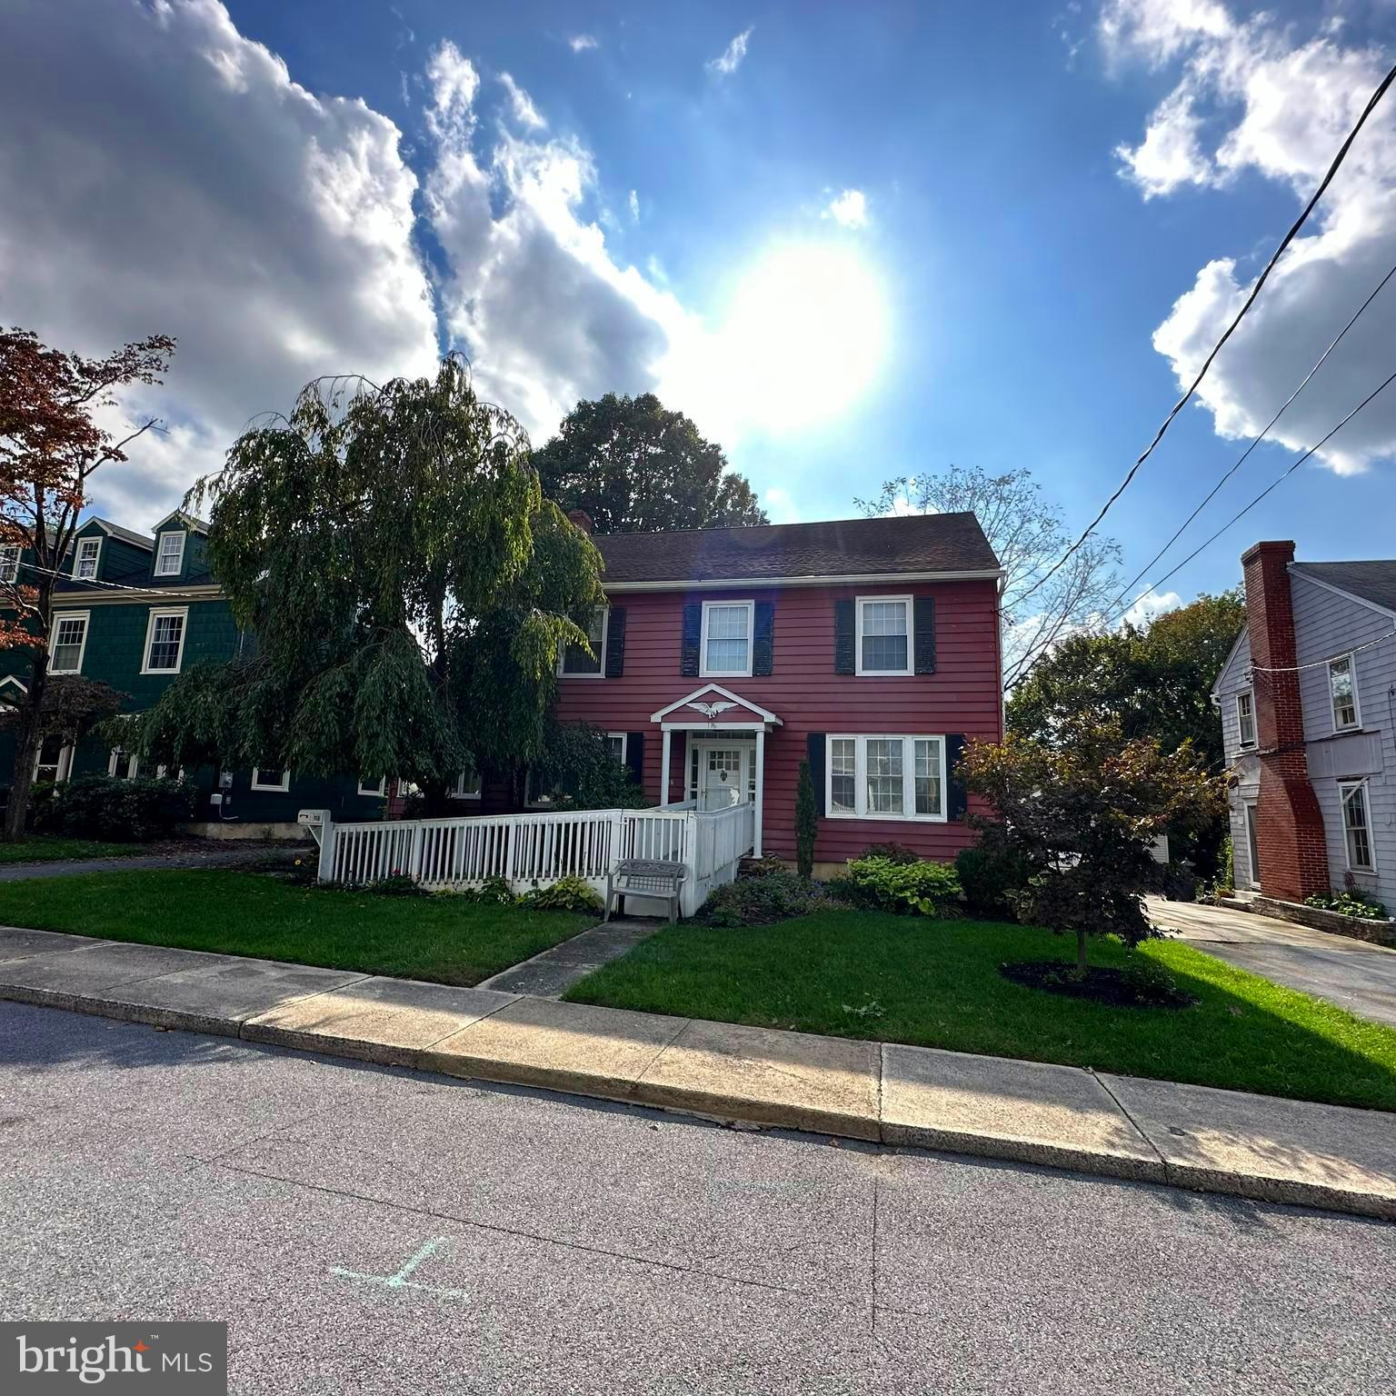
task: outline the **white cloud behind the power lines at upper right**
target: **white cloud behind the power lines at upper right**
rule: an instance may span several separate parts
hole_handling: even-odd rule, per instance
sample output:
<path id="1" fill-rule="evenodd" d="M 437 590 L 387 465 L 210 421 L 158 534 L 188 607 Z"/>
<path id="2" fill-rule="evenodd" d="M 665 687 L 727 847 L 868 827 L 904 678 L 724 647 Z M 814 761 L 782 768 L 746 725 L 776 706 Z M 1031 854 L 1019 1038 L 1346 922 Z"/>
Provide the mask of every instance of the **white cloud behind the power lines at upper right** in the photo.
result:
<path id="1" fill-rule="evenodd" d="M 1107 0 L 1100 36 L 1117 67 L 1177 73 L 1143 140 L 1118 151 L 1121 172 L 1146 198 L 1227 191 L 1252 174 L 1289 190 L 1297 208 L 1386 67 L 1376 49 L 1344 46 L 1332 24 L 1304 36 L 1263 13 L 1238 21 L 1213 0 Z M 1393 243 L 1396 102 L 1388 99 L 1198 389 L 1219 434 L 1244 438 L 1269 422 L 1389 269 Z M 1180 384 L 1191 383 L 1259 271 L 1254 260 L 1242 267 L 1238 251 L 1217 248 L 1154 331 Z M 1393 332 L 1396 288 L 1388 288 L 1272 438 L 1301 451 L 1323 437 L 1381 383 Z M 1315 459 L 1346 475 L 1393 455 L 1396 399 L 1383 396 Z"/>

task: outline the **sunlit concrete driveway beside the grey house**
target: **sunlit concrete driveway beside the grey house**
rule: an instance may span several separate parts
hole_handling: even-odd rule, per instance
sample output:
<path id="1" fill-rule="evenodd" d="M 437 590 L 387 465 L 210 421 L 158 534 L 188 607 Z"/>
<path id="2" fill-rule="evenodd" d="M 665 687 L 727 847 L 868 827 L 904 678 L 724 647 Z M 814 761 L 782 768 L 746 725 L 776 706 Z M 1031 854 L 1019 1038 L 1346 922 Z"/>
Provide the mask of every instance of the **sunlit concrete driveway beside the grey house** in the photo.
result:
<path id="1" fill-rule="evenodd" d="M 1148 902 L 1156 927 L 1209 955 L 1396 1027 L 1396 951 L 1254 912 Z"/>

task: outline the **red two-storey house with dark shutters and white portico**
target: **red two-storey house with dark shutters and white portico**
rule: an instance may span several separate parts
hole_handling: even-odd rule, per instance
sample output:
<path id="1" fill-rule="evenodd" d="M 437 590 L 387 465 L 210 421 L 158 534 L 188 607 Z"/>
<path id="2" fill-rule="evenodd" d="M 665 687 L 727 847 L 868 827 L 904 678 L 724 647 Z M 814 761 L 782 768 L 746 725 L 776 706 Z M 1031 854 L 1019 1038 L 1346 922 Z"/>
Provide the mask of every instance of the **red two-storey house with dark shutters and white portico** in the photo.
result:
<path id="1" fill-rule="evenodd" d="M 972 840 L 955 762 L 1002 737 L 1002 570 L 973 514 L 596 546 L 609 609 L 595 656 L 563 658 L 557 716 L 606 732 L 655 804 L 751 801 L 754 852 L 793 860 L 808 757 L 824 871 L 875 842 Z"/>

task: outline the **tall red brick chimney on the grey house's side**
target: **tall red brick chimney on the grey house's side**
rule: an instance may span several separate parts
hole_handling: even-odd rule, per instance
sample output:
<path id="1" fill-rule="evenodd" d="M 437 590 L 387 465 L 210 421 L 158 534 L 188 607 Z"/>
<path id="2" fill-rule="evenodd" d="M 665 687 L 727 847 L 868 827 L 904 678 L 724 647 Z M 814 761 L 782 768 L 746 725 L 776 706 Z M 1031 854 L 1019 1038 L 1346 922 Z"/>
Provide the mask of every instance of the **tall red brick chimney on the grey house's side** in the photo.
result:
<path id="1" fill-rule="evenodd" d="M 1323 815 L 1309 783 L 1304 750 L 1300 676 L 1262 671 L 1298 663 L 1289 574 L 1293 561 L 1293 542 L 1256 543 L 1241 554 L 1261 761 L 1261 800 L 1255 811 L 1261 891 L 1286 902 L 1302 902 L 1315 892 L 1328 892 L 1330 884 Z"/>

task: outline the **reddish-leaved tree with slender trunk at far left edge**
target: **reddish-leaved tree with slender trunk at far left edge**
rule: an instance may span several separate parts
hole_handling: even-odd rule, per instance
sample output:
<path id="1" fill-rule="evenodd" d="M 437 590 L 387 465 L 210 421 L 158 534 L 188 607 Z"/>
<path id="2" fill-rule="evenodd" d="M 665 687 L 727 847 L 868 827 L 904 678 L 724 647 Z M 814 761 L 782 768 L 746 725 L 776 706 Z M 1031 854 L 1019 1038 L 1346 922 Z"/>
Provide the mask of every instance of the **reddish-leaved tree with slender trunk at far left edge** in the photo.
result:
<path id="1" fill-rule="evenodd" d="M 105 359 L 85 359 L 50 349 L 28 329 L 0 331 L 0 547 L 20 550 L 14 570 L 0 572 L 0 649 L 21 651 L 28 660 L 27 690 L 10 704 L 7 839 L 24 838 L 29 785 L 49 730 L 50 602 L 70 565 L 92 475 L 124 461 L 126 448 L 156 426 L 147 417 L 113 433 L 95 417 L 116 405 L 119 388 L 159 383 L 173 352 L 169 335 L 152 335 Z"/>

